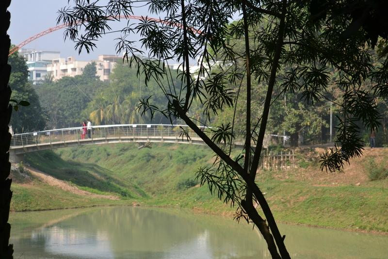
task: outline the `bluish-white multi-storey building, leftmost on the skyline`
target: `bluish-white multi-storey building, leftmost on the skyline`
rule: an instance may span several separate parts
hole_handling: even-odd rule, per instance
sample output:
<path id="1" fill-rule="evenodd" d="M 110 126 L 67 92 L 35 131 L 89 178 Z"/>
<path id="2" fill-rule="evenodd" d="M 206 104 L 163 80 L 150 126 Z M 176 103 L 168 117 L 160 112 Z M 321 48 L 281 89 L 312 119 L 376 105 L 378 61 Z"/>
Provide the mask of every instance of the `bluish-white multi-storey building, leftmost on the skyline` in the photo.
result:
<path id="1" fill-rule="evenodd" d="M 28 80 L 33 84 L 41 83 L 47 75 L 47 65 L 60 57 L 59 51 L 36 51 L 21 49 L 19 54 L 24 57 L 28 66 Z"/>

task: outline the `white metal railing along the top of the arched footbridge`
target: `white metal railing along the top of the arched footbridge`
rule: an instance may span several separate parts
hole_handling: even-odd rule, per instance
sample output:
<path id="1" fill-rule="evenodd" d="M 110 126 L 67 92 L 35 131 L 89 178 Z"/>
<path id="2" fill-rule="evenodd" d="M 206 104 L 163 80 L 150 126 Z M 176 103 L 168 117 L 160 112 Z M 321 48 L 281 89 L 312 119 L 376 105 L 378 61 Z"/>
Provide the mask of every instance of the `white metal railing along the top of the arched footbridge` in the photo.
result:
<path id="1" fill-rule="evenodd" d="M 211 138 L 213 131 L 211 127 L 198 126 Z M 198 135 L 187 125 L 170 125 L 170 124 L 119 124 L 119 125 L 99 125 L 92 126 L 90 137 L 86 130 L 86 135 L 82 135 L 83 128 L 73 127 L 65 129 L 50 129 L 29 133 L 14 134 L 11 140 L 11 149 L 24 146 L 51 145 L 69 142 L 90 141 L 93 139 L 136 139 L 136 138 L 174 138 L 187 140 L 185 134 L 182 134 L 183 129 L 187 132 L 191 139 L 199 138 Z M 266 135 L 271 139 L 270 134 Z M 288 136 L 275 137 L 285 138 Z M 243 143 L 243 139 L 235 139 L 235 143 Z M 270 141 L 271 142 L 271 141 Z"/>

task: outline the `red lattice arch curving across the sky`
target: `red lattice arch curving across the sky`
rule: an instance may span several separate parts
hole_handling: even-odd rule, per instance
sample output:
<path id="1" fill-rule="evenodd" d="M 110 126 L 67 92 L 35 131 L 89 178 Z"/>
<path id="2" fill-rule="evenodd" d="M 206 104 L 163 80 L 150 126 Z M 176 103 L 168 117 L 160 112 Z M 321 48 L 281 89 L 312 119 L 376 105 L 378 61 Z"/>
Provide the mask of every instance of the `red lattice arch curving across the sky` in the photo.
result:
<path id="1" fill-rule="evenodd" d="M 167 21 L 163 21 L 161 19 L 157 19 L 157 18 L 152 18 L 152 17 L 144 17 L 144 16 L 115 16 L 114 17 L 115 19 L 137 19 L 137 20 L 141 20 L 141 19 L 146 19 L 148 21 L 156 21 L 156 22 L 160 22 L 160 23 L 167 23 L 167 24 L 170 24 L 172 26 L 175 26 L 175 27 L 181 27 L 182 25 L 181 24 L 178 24 L 178 23 L 170 23 L 170 22 L 167 22 Z M 31 36 L 30 38 L 24 40 L 23 42 L 21 42 L 20 44 L 16 45 L 14 48 L 12 48 L 10 51 L 9 51 L 9 54 L 8 56 L 10 56 L 11 54 L 15 53 L 17 50 L 23 48 L 24 46 L 26 46 L 27 44 L 29 44 L 30 42 L 46 35 L 46 34 L 49 34 L 51 32 L 55 32 L 55 31 L 58 31 L 58 30 L 61 30 L 63 28 L 65 28 L 67 26 L 66 23 L 64 24 L 61 24 L 61 25 L 57 25 L 55 27 L 51 27 L 43 32 L 39 32 L 38 34 L 35 34 L 33 36 Z M 191 29 L 193 32 L 195 33 L 201 33 L 201 31 L 198 31 L 198 30 L 195 30 L 194 28 Z"/>

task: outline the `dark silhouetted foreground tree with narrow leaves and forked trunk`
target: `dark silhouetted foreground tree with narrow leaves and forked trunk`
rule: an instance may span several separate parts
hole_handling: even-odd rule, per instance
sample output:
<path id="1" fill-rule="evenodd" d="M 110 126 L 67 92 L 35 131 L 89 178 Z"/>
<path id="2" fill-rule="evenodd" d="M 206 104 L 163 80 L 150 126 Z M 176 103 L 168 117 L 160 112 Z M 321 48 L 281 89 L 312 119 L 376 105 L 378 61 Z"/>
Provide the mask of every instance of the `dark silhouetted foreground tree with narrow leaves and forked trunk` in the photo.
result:
<path id="1" fill-rule="evenodd" d="M 60 10 L 58 22 L 68 24 L 65 36 L 76 41 L 80 51 L 97 46 L 95 41 L 110 31 L 110 17 L 130 15 L 135 8 L 130 1 L 107 5 L 75 2 L 76 7 Z M 355 3 L 367 10 L 355 8 Z M 217 155 L 213 166 L 199 168 L 201 183 L 224 202 L 236 205 L 237 219 L 244 218 L 259 228 L 273 258 L 290 258 L 285 236 L 255 182 L 271 104 L 281 94 L 297 92 L 307 104 L 334 102 L 327 88 L 330 71 L 335 70 L 339 74 L 335 86 L 343 92 L 342 102 L 334 103 L 340 110 L 339 130 L 335 148 L 322 155 L 322 168 L 340 170 L 345 162 L 360 156 L 363 142 L 358 123 L 368 130 L 377 129 L 380 115 L 373 95 L 388 95 L 387 66 L 373 65 L 369 52 L 377 36 L 387 38 L 387 28 L 373 31 L 365 19 L 375 14 L 381 17 L 381 10 L 361 0 L 150 0 L 148 6 L 155 16 L 164 17 L 162 23 L 142 18 L 123 28 L 116 45 L 146 82 L 158 82 L 168 100 L 167 105 L 158 107 L 143 98 L 142 113 L 160 113 L 170 121 L 179 118 L 201 137 Z M 236 13 L 242 19 L 229 24 Z M 129 40 L 131 33 L 140 34 L 146 54 Z M 234 49 L 235 39 L 244 42 L 243 49 Z M 171 78 L 167 66 L 171 59 L 181 62 L 178 79 L 182 87 L 178 89 L 171 81 L 163 84 Z M 199 60 L 196 78 L 190 73 L 190 59 Z M 221 71 L 213 71 L 211 64 L 222 64 Z M 266 92 L 260 116 L 252 113 L 252 81 Z M 373 81 L 374 92 L 361 88 L 365 81 Z M 228 88 L 228 84 L 235 87 Z M 279 89 L 277 95 L 274 89 Z M 201 104 L 205 121 L 200 123 L 206 126 L 226 107 L 236 109 L 239 98 L 244 98 L 245 146 L 243 156 L 232 158 L 236 113 L 228 124 L 202 131 L 191 118 L 191 108 L 194 101 Z"/>

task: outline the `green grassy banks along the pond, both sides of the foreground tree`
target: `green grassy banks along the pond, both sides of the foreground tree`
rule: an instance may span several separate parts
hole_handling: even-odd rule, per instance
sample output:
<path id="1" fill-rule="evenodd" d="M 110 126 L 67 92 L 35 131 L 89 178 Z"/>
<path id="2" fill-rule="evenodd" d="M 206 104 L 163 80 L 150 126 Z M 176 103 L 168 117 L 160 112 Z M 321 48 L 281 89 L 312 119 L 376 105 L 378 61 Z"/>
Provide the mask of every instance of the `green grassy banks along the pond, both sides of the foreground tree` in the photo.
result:
<path id="1" fill-rule="evenodd" d="M 372 170 L 368 161 L 383 163 L 388 150 L 373 152 L 368 151 L 363 158 L 353 161 L 345 168 L 345 173 L 327 174 L 319 170 L 317 152 L 300 151 L 299 168 L 284 172 L 262 171 L 259 186 L 266 193 L 278 221 L 388 232 L 388 180 L 371 181 L 368 177 Z M 154 145 L 151 149 L 139 150 L 135 145 L 117 144 L 35 152 L 25 158 L 33 167 L 82 190 L 114 194 L 120 200 L 65 194 L 37 181 L 34 188 L 29 184 L 13 184 L 12 209 L 71 208 L 82 204 L 136 201 L 145 205 L 232 214 L 233 208 L 222 204 L 209 194 L 206 186 L 199 187 L 195 182 L 196 169 L 212 160 L 208 148 L 194 145 Z M 385 167 L 380 169 L 384 171 Z M 37 201 L 33 201 L 35 199 Z"/>

